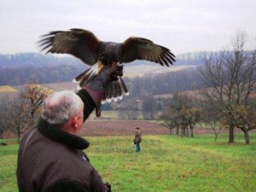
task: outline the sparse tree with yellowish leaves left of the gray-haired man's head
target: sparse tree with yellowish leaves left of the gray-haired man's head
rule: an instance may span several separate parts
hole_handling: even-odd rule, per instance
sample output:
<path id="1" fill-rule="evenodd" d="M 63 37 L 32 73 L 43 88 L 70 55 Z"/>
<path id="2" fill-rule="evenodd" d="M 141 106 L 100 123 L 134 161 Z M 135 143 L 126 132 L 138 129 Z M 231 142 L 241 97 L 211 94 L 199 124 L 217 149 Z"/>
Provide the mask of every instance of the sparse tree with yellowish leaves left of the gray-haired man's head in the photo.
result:
<path id="1" fill-rule="evenodd" d="M 18 143 L 21 134 L 35 125 L 40 106 L 50 92 L 40 84 L 25 84 L 17 96 L 4 102 L 4 124 L 17 134 Z"/>

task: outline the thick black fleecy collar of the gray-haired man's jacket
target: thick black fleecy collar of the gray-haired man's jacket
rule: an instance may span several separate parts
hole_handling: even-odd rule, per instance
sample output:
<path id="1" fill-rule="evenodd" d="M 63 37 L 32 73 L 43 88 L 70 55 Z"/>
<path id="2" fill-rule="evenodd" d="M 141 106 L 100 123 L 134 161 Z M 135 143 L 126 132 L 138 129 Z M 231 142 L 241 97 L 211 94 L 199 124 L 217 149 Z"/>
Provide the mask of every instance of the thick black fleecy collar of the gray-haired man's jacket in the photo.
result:
<path id="1" fill-rule="evenodd" d="M 69 134 L 66 131 L 61 131 L 59 127 L 50 125 L 42 118 L 40 118 L 38 122 L 38 131 L 44 135 L 44 137 L 48 137 L 50 140 L 67 145 L 70 148 L 83 150 L 90 145 L 84 138 Z"/>

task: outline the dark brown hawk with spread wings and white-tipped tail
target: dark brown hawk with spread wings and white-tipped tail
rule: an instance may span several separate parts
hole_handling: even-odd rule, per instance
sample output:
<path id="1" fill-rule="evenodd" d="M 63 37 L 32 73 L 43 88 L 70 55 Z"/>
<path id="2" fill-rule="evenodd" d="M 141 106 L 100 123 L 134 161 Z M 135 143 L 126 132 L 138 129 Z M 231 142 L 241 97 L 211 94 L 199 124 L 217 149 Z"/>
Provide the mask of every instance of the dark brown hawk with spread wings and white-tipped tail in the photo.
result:
<path id="1" fill-rule="evenodd" d="M 159 63 L 169 67 L 175 61 L 175 55 L 170 49 L 146 38 L 130 37 L 123 43 L 104 42 L 84 29 L 70 29 L 69 31 L 55 31 L 44 35 L 39 41 L 42 50 L 47 53 L 69 54 L 79 58 L 90 68 L 79 74 L 73 81 L 79 83 L 79 88 L 90 82 L 102 68 L 112 65 L 118 66 L 135 60 L 145 60 Z M 117 79 L 108 86 L 105 91 L 104 101 L 111 102 L 122 99 L 129 92 L 123 79 Z"/>

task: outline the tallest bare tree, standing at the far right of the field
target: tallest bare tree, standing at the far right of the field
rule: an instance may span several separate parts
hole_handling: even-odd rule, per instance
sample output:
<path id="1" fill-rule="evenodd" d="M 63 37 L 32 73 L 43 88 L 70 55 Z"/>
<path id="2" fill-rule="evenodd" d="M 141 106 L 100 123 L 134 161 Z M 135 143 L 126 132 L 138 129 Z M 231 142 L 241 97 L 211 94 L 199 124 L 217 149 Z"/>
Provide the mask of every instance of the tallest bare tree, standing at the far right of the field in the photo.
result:
<path id="1" fill-rule="evenodd" d="M 256 90 L 256 50 L 245 50 L 246 33 L 237 32 L 232 50 L 224 50 L 216 57 L 205 58 L 201 68 L 204 83 L 209 87 L 203 96 L 215 104 L 229 126 L 229 143 L 235 142 L 234 129 L 237 106 L 248 105 Z"/>

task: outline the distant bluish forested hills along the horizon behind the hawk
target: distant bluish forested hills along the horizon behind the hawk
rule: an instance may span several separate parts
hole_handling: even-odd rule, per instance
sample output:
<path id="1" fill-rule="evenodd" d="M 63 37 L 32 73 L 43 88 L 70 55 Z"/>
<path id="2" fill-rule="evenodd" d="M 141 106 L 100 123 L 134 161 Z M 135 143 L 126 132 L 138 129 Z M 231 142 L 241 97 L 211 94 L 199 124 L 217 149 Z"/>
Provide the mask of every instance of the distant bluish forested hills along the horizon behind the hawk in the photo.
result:
<path id="1" fill-rule="evenodd" d="M 177 55 L 175 66 L 200 65 L 204 52 Z M 134 61 L 129 66 L 150 65 L 148 61 Z M 44 55 L 22 53 L 0 54 L 0 85 L 19 85 L 30 83 L 47 84 L 71 81 L 88 66 L 69 55 Z"/>

